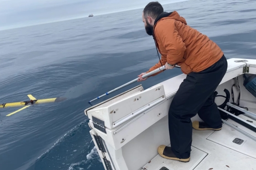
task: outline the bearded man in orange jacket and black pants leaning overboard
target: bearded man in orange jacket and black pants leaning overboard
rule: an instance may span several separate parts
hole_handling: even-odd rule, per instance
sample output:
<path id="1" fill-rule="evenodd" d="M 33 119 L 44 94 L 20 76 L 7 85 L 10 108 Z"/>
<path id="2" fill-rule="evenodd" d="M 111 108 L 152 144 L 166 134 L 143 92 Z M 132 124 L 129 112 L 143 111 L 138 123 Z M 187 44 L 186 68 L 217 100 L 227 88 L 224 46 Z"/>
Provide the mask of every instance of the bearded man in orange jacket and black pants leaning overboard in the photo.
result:
<path id="1" fill-rule="evenodd" d="M 217 44 L 189 27 L 176 11 L 164 12 L 158 2 L 150 2 L 144 8 L 142 19 L 147 34 L 153 35 L 161 53 L 159 63 L 148 72 L 162 65 L 166 69 L 179 65 L 187 74 L 169 108 L 171 147 L 159 146 L 158 153 L 167 159 L 188 162 L 192 125 L 196 130 L 220 130 L 222 127 L 214 92 L 226 73 L 227 61 Z M 138 76 L 138 81 L 147 79 L 142 78 L 144 74 Z M 190 118 L 197 113 L 204 122 L 194 121 L 192 124 Z"/>

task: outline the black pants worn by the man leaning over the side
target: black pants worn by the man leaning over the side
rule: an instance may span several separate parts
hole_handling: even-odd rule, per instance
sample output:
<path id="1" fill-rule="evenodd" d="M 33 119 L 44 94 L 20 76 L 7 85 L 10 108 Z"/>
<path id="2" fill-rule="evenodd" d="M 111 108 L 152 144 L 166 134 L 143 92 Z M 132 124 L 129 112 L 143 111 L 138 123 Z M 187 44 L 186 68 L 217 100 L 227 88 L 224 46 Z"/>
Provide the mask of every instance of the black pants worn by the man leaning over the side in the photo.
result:
<path id="1" fill-rule="evenodd" d="M 211 128 L 220 128 L 222 121 L 215 104 L 214 92 L 227 70 L 222 58 L 209 68 L 189 73 L 180 84 L 169 108 L 169 135 L 171 148 L 179 158 L 189 158 L 192 143 L 192 122 L 197 113 Z"/>

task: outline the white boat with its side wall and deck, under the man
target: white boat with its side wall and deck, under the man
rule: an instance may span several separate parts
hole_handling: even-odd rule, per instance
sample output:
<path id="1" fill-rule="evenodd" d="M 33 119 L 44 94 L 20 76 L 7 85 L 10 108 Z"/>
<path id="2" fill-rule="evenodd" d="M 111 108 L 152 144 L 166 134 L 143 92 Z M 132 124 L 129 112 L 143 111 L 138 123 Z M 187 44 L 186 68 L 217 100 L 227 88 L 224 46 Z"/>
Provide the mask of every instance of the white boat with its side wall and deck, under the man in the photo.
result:
<path id="1" fill-rule="evenodd" d="M 247 65 L 236 63 L 236 60 L 243 59 L 228 59 L 227 73 L 216 91 L 218 95 L 225 96 L 224 89 L 231 91 L 233 78 L 238 76 L 241 106 L 256 113 L 256 98 L 242 85 L 245 66 L 249 67 L 250 74 L 256 74 L 256 60 L 247 59 Z M 169 106 L 185 77 L 181 74 L 146 90 L 141 86 L 134 87 L 85 110 L 90 119 L 90 134 L 105 170 L 226 170 L 229 167 L 232 170 L 256 170 L 256 141 L 226 124 L 223 124 L 221 131 L 193 129 L 188 163 L 167 160 L 158 155 L 158 146 L 170 145 Z M 234 95 L 236 98 L 236 90 Z M 224 100 L 216 97 L 215 102 L 220 105 Z M 248 119 L 244 115 L 239 117 Z M 201 121 L 198 115 L 192 118 L 192 121 L 195 120 Z M 231 119 L 227 121 L 256 137 L 254 131 Z M 255 122 L 251 126 L 255 126 Z M 243 140 L 241 145 L 233 142 L 236 138 Z"/>

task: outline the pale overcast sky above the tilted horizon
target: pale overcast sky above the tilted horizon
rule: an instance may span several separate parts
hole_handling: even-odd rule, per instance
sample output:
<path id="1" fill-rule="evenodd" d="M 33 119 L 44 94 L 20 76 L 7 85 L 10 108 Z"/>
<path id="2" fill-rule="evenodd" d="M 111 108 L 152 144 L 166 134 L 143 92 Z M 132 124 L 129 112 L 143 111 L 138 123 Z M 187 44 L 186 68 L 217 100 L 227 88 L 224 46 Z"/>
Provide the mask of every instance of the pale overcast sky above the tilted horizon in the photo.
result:
<path id="1" fill-rule="evenodd" d="M 143 8 L 153 0 L 0 0 L 0 30 Z M 184 0 L 158 0 L 169 4 Z"/>

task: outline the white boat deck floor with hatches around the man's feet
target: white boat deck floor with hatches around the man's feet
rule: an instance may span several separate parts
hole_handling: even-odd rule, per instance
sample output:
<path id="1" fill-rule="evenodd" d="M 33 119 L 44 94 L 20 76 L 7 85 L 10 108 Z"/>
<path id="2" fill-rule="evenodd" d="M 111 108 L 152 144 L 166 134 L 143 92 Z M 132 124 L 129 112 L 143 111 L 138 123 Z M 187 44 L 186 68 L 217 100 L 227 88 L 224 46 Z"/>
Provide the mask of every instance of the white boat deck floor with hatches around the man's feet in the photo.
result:
<path id="1" fill-rule="evenodd" d="M 255 132 L 228 120 L 242 130 Z M 233 142 L 240 138 L 239 145 Z M 193 129 L 191 158 L 187 163 L 154 157 L 142 170 L 256 170 L 256 142 L 223 124 L 221 131 L 197 131 Z"/>

